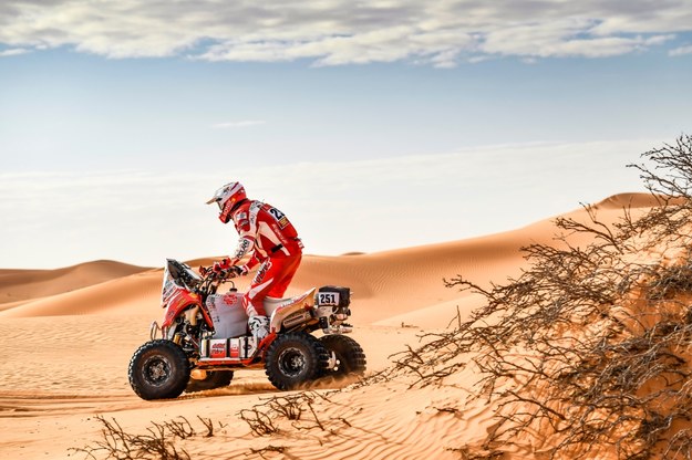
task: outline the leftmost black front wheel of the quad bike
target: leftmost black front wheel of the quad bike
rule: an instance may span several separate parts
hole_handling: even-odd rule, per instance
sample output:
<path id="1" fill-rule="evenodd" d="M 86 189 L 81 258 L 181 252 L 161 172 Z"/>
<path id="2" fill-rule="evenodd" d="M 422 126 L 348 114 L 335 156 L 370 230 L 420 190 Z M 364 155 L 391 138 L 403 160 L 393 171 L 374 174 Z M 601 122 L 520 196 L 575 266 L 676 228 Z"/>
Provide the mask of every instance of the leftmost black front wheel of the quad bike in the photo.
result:
<path id="1" fill-rule="evenodd" d="M 189 380 L 189 362 L 175 343 L 151 341 L 130 359 L 128 375 L 130 386 L 142 399 L 177 398 Z"/>

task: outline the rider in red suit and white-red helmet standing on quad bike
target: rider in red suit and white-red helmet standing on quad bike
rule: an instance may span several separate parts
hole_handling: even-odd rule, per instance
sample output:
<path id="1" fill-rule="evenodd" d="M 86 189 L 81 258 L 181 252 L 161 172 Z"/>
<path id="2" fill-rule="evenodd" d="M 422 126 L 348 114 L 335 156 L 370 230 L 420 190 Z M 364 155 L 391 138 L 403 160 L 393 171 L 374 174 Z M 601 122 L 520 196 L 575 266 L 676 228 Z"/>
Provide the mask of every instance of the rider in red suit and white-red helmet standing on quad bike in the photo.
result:
<path id="1" fill-rule="evenodd" d="M 269 334 L 265 297 L 283 296 L 302 258 L 302 242 L 288 218 L 277 208 L 247 198 L 240 182 L 229 182 L 216 190 L 207 205 L 216 202 L 219 220 L 233 219 L 239 234 L 238 247 L 229 258 L 214 262 L 214 271 L 234 270 L 247 274 L 261 262 L 248 292 L 242 297 L 250 332 L 258 339 Z M 245 255 L 250 259 L 237 265 Z"/>

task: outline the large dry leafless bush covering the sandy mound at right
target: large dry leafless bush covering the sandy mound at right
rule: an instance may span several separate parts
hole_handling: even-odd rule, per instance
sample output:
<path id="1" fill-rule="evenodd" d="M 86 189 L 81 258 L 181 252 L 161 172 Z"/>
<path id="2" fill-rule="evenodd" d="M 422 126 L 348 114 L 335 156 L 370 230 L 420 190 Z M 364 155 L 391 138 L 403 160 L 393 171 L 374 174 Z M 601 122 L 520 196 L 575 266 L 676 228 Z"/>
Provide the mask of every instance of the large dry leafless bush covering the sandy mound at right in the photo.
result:
<path id="1" fill-rule="evenodd" d="M 692 137 L 642 157 L 653 166 L 631 166 L 659 206 L 614 224 L 593 207 L 587 222 L 557 219 L 559 242 L 524 248 L 529 268 L 507 284 L 447 280 L 485 306 L 395 356 L 384 378 L 412 386 L 482 373 L 497 424 L 482 446 L 453 449 L 463 458 L 513 443 L 551 459 L 692 458 Z M 591 242 L 570 244 L 575 233 Z"/>

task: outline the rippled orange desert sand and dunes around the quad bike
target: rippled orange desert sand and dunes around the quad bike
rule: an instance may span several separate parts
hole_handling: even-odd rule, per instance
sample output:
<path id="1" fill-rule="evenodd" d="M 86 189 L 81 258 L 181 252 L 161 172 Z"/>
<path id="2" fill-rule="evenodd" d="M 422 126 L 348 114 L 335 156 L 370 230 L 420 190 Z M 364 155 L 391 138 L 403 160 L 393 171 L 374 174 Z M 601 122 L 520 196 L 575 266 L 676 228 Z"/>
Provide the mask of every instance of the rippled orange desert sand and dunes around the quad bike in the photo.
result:
<path id="1" fill-rule="evenodd" d="M 600 220 L 612 221 L 626 206 L 638 212 L 653 205 L 648 195 L 623 194 L 596 209 Z M 566 216 L 587 219 L 583 209 Z M 391 366 L 392 354 L 415 347 L 422 334 L 444 331 L 457 312 L 463 320 L 479 305 L 479 296 L 445 288 L 444 279 L 461 274 L 484 286 L 503 283 L 527 263 L 521 247 L 561 244 L 555 234 L 552 218 L 546 218 L 469 240 L 307 255 L 287 294 L 323 284 L 350 286 L 352 336 L 363 346 L 368 375 L 373 375 Z M 582 243 L 579 238 L 570 242 Z M 188 262 L 208 265 L 213 255 Z M 492 411 L 473 398 L 477 376 L 472 368 L 446 386 L 409 388 L 405 379 L 328 385 L 312 396 L 323 396 L 314 402 L 317 420 L 312 415 L 287 420 L 271 436 L 254 432 L 240 411 L 297 393 L 277 391 L 262 370 L 237 372 L 227 388 L 144 401 L 130 388 L 127 365 L 148 339 L 151 322 L 161 320 L 161 278 L 159 268 L 112 261 L 0 270 L 0 458 L 90 458 L 79 449 L 103 441 L 96 417 L 115 420 L 131 433 L 184 417 L 196 435 L 178 445 L 194 459 L 458 459 L 464 458 L 463 446 L 492 429 Z M 237 281 L 238 288 L 247 281 Z M 452 402 L 463 410 L 445 410 Z M 214 436 L 204 436 L 198 416 L 215 424 Z M 94 450 L 93 456 L 106 458 L 107 452 Z"/>

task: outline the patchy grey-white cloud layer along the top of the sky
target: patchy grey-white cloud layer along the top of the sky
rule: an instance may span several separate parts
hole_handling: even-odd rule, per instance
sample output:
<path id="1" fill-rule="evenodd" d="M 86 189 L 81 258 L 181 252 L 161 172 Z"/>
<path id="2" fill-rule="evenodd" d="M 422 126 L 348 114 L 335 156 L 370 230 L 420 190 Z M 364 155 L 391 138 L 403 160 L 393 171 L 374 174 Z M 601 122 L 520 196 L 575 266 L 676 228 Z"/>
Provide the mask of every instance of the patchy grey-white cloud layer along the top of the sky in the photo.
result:
<path id="1" fill-rule="evenodd" d="M 317 65 L 483 56 L 601 58 L 661 46 L 692 30 L 692 0 L 20 1 L 0 6 L 0 43 L 73 46 L 109 58 Z M 674 55 L 679 55 L 674 54 Z"/>

